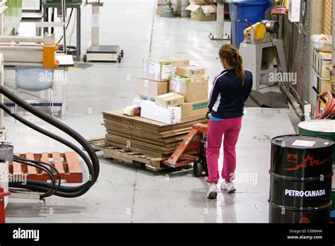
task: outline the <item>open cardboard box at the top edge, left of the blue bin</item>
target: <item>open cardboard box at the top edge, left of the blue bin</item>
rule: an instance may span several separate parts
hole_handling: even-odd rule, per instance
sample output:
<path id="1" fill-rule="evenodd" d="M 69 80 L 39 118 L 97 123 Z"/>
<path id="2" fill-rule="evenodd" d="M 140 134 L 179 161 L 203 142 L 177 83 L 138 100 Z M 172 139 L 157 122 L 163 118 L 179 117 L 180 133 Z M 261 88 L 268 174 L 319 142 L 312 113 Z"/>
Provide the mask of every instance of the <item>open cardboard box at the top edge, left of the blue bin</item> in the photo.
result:
<path id="1" fill-rule="evenodd" d="M 191 18 L 198 21 L 215 21 L 216 5 L 211 0 L 189 0 L 186 8 L 191 11 Z"/>

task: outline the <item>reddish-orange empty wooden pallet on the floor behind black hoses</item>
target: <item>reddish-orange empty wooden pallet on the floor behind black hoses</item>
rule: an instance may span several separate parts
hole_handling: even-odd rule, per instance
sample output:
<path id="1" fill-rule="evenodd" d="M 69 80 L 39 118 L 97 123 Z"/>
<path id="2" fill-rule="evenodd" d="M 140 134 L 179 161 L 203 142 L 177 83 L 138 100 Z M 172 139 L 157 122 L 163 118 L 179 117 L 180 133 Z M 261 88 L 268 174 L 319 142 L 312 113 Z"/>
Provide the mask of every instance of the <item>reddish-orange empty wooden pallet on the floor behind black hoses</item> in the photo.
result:
<path id="1" fill-rule="evenodd" d="M 69 183 L 83 182 L 83 172 L 81 163 L 78 160 L 76 152 L 52 152 L 52 153 L 15 153 L 16 156 L 26 158 L 28 160 L 37 160 L 53 165 L 59 171 L 61 180 L 66 180 Z M 50 169 L 50 168 L 49 168 Z M 54 173 L 54 171 L 52 170 Z M 28 180 L 37 180 L 47 182 L 49 175 L 41 170 L 29 165 L 13 162 L 9 165 L 9 174 L 11 177 L 18 176 L 26 177 Z M 58 176 L 54 174 L 57 179 Z"/>

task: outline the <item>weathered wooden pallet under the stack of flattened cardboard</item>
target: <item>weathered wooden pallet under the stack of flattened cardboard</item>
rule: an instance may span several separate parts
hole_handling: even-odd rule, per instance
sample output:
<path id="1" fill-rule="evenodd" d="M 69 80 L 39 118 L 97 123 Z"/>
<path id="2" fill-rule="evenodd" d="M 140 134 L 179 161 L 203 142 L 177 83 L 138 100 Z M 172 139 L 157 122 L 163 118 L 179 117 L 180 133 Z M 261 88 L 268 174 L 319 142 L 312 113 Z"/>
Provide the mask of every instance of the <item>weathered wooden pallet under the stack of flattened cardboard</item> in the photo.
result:
<path id="1" fill-rule="evenodd" d="M 167 160 L 167 158 L 154 158 L 124 148 L 107 146 L 104 138 L 90 139 L 88 142 L 95 151 L 102 151 L 105 158 L 113 158 L 128 164 L 143 163 L 146 165 L 146 169 L 153 171 L 168 168 L 163 164 L 163 160 Z"/>

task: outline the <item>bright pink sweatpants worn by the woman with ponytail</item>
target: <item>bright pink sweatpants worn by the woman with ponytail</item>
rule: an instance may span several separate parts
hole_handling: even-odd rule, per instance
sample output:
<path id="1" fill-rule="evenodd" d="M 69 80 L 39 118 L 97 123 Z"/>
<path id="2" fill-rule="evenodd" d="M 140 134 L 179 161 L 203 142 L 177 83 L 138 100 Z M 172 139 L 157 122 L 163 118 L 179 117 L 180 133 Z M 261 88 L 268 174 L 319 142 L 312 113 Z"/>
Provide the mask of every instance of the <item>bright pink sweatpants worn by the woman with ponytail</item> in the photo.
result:
<path id="1" fill-rule="evenodd" d="M 206 158 L 208 167 L 208 183 L 218 183 L 218 157 L 223 137 L 223 170 L 222 178 L 230 181 L 234 179 L 236 168 L 235 146 L 242 127 L 242 117 L 224 119 L 223 121 L 208 123 Z"/>

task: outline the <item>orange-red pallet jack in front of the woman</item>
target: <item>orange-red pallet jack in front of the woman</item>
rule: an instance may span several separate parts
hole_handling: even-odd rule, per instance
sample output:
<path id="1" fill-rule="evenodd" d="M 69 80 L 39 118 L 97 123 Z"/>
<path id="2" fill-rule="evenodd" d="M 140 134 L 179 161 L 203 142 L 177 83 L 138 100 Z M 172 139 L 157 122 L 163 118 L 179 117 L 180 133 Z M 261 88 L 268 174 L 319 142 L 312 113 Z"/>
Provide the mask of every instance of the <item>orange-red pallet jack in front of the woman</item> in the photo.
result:
<path id="1" fill-rule="evenodd" d="M 206 118 L 209 119 L 209 112 Z M 177 146 L 165 165 L 178 168 L 193 163 L 193 173 L 195 177 L 200 177 L 203 172 L 208 176 L 206 146 L 207 146 L 207 124 L 194 124 L 192 130 L 185 139 Z"/>

